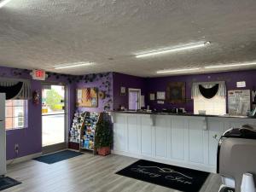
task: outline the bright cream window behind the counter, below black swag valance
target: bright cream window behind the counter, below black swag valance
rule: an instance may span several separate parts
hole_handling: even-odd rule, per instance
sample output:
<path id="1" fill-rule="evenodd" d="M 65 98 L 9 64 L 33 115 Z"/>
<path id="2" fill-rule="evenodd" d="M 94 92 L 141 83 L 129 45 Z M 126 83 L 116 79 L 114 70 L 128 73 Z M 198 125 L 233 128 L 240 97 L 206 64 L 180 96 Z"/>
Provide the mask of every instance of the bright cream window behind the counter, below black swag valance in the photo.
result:
<path id="1" fill-rule="evenodd" d="M 205 110 L 207 114 L 223 115 L 226 113 L 226 97 L 213 96 L 207 99 L 204 96 L 194 98 L 194 113 L 198 114 L 199 110 Z"/>

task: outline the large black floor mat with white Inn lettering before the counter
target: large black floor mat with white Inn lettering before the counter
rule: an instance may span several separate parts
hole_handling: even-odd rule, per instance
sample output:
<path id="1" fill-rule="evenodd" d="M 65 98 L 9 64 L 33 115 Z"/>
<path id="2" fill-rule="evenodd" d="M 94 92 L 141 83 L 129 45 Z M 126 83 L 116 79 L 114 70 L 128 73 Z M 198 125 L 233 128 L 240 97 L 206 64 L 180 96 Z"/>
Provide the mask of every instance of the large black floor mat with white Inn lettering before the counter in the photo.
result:
<path id="1" fill-rule="evenodd" d="M 148 160 L 138 160 L 116 174 L 184 192 L 198 192 L 209 173 Z"/>

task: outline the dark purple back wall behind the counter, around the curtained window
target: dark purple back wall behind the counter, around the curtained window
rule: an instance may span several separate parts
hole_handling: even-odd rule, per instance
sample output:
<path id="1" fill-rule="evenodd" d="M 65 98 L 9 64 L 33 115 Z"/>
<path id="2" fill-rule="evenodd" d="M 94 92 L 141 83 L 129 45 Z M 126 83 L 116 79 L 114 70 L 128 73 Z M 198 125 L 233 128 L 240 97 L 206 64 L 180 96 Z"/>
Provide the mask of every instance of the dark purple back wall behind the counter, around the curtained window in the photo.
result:
<path id="1" fill-rule="evenodd" d="M 251 71 L 237 71 L 237 72 L 225 72 L 225 73 L 207 73 L 207 74 L 195 74 L 195 75 L 183 75 L 183 76 L 171 76 L 163 78 L 147 79 L 147 92 L 166 91 L 166 85 L 169 82 L 185 82 L 186 83 L 186 98 L 191 98 L 191 85 L 193 82 L 205 82 L 205 81 L 225 81 L 227 90 L 237 90 L 237 81 L 246 81 L 247 86 L 242 89 L 252 90 L 253 86 L 256 86 L 256 70 Z M 193 101 L 189 100 L 183 104 L 157 104 L 156 101 L 148 101 L 147 104 L 150 108 L 185 108 L 188 112 L 193 113 L 194 106 Z"/>

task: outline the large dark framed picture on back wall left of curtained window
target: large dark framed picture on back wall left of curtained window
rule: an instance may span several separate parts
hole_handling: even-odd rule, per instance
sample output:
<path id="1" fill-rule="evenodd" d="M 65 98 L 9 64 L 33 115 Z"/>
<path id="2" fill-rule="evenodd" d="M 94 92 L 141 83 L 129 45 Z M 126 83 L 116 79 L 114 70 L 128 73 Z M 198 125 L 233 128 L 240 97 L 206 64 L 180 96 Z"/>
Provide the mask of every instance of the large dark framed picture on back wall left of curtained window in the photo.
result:
<path id="1" fill-rule="evenodd" d="M 186 102 L 186 90 L 184 82 L 170 82 L 166 87 L 166 101 L 171 103 Z"/>

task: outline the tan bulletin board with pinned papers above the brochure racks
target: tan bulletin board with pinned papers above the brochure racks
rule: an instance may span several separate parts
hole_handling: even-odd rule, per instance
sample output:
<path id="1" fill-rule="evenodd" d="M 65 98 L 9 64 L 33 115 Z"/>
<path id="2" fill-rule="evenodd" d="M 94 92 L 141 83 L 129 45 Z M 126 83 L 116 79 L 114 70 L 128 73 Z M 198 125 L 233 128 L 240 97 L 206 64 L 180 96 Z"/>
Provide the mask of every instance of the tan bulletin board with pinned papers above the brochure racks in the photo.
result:
<path id="1" fill-rule="evenodd" d="M 77 89 L 77 107 L 97 108 L 98 89 L 96 87 Z"/>

